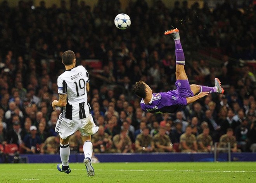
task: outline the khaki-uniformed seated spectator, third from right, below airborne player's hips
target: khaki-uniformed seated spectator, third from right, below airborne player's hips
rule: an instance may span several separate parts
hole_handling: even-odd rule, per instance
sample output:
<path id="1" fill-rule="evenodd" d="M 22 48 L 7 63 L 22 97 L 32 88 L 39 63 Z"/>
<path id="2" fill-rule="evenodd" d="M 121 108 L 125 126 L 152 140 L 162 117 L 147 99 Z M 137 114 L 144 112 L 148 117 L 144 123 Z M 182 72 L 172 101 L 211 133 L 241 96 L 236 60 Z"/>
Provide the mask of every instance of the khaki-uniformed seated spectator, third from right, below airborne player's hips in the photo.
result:
<path id="1" fill-rule="evenodd" d="M 180 136 L 179 149 L 181 152 L 197 152 L 196 138 L 192 134 L 190 125 L 187 126 L 186 132 Z"/>

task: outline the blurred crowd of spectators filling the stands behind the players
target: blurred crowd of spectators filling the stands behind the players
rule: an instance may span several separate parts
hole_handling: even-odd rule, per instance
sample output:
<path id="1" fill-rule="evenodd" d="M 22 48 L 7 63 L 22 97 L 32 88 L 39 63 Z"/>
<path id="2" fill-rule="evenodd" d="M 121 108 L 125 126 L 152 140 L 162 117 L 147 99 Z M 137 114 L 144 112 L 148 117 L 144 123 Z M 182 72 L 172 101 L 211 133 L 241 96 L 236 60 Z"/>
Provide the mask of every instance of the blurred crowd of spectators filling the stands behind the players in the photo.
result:
<path id="1" fill-rule="evenodd" d="M 68 4 L 69 3 L 69 4 Z M 68 8 L 69 7 L 69 8 Z M 114 17 L 125 12 L 131 27 L 119 30 Z M 54 131 L 61 108 L 57 77 L 64 71 L 61 55 L 73 50 L 77 64 L 89 71 L 92 106 L 99 132 L 92 136 L 95 152 L 210 152 L 213 143 L 230 142 L 233 152 L 256 151 L 255 65 L 256 8 L 251 1 L 237 7 L 226 0 L 210 9 L 195 2 L 167 8 L 157 0 L 61 1 L 61 7 L 39 7 L 19 1 L 0 5 L 0 143 L 16 143 L 24 153 L 56 153 Z M 175 114 L 150 114 L 140 109 L 132 87 L 144 80 L 153 92 L 174 89 L 175 44 L 164 31 L 180 30 L 190 84 L 214 86 L 218 77 L 225 93 L 213 93 Z M 221 55 L 219 66 L 186 53 Z M 212 53 L 213 54 L 213 53 Z M 214 55 L 214 54 L 213 54 Z M 99 60 L 95 71 L 87 60 Z M 206 142 L 207 139 L 207 142 Z M 177 145 L 179 147 L 175 147 Z M 224 145 L 223 145 L 224 144 Z M 81 152 L 79 132 L 70 139 Z"/>

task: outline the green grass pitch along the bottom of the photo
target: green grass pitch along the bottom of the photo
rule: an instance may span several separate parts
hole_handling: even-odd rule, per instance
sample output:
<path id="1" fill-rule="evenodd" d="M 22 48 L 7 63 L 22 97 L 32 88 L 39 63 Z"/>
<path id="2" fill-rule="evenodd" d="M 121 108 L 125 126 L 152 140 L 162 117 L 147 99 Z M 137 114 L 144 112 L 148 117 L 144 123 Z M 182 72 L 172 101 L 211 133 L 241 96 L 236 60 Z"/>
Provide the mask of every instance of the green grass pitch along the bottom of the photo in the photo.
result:
<path id="1" fill-rule="evenodd" d="M 83 163 L 70 163 L 71 173 L 57 163 L 0 164 L 1 183 L 255 183 L 256 162 L 140 162 L 93 164 L 87 177 Z"/>

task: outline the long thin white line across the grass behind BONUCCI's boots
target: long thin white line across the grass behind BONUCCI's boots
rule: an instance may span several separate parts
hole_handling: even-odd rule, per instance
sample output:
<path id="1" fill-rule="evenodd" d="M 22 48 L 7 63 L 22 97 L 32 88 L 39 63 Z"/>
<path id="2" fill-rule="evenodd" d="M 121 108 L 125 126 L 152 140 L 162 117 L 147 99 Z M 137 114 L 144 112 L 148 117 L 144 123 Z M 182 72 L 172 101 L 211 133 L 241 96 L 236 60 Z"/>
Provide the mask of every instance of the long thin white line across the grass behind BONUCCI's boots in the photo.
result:
<path id="1" fill-rule="evenodd" d="M 28 170 L 28 169 L 19 169 L 19 170 Z M 55 170 L 55 169 L 37 169 L 37 170 Z M 85 171 L 85 169 L 72 169 L 78 171 Z M 95 171 L 144 171 L 144 172 L 223 172 L 223 173 L 256 173 L 256 171 L 244 171 L 244 170 L 136 170 L 136 169 L 95 169 Z"/>

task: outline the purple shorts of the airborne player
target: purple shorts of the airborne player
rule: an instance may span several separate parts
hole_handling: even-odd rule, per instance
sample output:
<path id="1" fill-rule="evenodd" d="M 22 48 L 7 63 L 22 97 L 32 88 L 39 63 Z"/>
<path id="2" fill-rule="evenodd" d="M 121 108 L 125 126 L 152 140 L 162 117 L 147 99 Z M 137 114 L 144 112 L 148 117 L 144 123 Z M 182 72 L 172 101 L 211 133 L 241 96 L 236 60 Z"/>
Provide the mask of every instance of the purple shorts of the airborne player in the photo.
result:
<path id="1" fill-rule="evenodd" d="M 174 93 L 176 93 L 180 97 L 193 97 L 194 93 L 192 92 L 190 88 L 190 84 L 188 80 L 182 79 L 177 80 L 175 82 L 176 90 L 173 90 Z"/>

